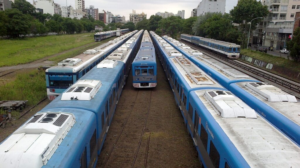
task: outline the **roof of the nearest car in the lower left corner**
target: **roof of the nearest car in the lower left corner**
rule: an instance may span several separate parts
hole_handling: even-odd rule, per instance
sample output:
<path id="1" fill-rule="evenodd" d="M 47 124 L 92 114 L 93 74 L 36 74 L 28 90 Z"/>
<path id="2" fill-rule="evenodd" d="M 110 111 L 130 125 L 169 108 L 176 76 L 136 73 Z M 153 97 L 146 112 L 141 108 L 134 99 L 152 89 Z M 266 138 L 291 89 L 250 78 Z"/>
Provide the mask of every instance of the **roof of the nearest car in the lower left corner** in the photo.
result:
<path id="1" fill-rule="evenodd" d="M 49 166 L 51 159 L 66 159 L 61 156 L 67 155 L 67 151 L 59 145 L 67 146 L 73 141 L 70 147 L 76 146 L 75 141 L 84 137 L 83 130 L 88 127 L 80 123 L 93 119 L 95 114 L 80 109 L 49 109 L 36 113 L 0 144 L 1 166 L 42 167 Z"/>

